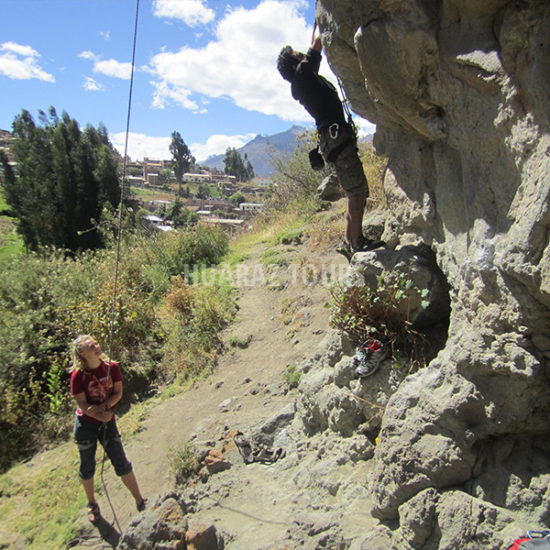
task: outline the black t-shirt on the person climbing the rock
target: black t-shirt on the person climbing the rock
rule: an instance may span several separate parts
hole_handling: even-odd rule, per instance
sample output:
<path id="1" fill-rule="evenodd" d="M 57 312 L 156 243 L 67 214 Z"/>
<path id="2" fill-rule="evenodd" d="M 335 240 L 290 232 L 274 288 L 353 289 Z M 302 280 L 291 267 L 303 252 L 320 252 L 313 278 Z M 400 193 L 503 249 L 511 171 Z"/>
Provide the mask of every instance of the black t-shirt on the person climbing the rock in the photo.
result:
<path id="1" fill-rule="evenodd" d="M 321 54 L 310 48 L 305 59 L 296 68 L 296 75 L 291 83 L 292 97 L 315 119 L 318 130 L 334 122 L 346 122 L 336 88 L 318 74 L 320 64 Z"/>

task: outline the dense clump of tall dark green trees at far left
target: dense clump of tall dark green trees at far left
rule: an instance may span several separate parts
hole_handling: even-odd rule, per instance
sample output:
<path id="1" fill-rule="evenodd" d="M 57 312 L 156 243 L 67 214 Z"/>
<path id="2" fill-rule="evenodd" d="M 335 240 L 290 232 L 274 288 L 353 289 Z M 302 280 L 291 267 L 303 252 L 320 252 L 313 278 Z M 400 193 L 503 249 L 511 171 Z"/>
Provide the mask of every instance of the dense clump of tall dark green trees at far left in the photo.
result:
<path id="1" fill-rule="evenodd" d="M 23 110 L 13 122 L 16 168 L 0 159 L 2 188 L 16 227 L 31 250 L 44 246 L 77 251 L 103 245 L 97 231 L 102 210 L 116 208 L 120 182 L 116 153 L 104 127 L 81 131 L 53 107 L 40 124 Z"/>

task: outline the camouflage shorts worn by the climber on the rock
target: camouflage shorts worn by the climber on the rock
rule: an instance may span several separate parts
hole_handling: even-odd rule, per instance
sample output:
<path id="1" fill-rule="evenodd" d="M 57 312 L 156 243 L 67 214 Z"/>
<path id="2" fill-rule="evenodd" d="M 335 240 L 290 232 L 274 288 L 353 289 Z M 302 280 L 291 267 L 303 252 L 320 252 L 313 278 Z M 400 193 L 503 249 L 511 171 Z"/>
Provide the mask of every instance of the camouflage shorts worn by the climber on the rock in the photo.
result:
<path id="1" fill-rule="evenodd" d="M 340 185 L 348 197 L 361 194 L 366 194 L 368 197 L 369 186 L 357 154 L 355 135 L 347 124 L 340 124 L 335 130 L 334 125 L 319 130 L 321 155 L 336 172 Z"/>

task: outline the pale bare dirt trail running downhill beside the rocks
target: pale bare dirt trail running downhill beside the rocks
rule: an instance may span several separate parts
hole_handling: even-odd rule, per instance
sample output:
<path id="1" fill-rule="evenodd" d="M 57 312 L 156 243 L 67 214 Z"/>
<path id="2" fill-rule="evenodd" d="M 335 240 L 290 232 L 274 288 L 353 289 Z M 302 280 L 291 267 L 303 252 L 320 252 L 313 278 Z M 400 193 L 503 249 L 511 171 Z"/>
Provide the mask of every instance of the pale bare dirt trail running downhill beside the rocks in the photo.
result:
<path id="1" fill-rule="evenodd" d="M 247 260 L 250 268 L 260 265 L 261 252 Z M 296 390 L 288 391 L 284 373 L 290 364 L 315 350 L 328 328 L 329 311 L 324 307 L 326 284 L 315 278 L 308 281 L 307 269 L 296 263 L 300 253 L 288 254 L 294 263 L 279 267 L 273 274 L 276 289 L 263 284 L 240 288 L 237 320 L 225 331 L 224 340 L 250 340 L 248 346 L 227 346 L 208 379 L 154 406 L 143 430 L 125 444 L 148 498 L 175 487 L 170 449 L 181 448 L 192 438 L 214 443 L 227 429 L 246 433 L 249 426 L 273 417 L 294 401 Z M 339 272 L 347 266 L 344 258 L 330 251 L 314 261 L 308 257 L 307 263 L 333 265 Z M 238 544 L 228 548 L 259 548 L 259 527 L 264 543 L 274 542 L 281 530 L 284 532 L 283 525 L 292 522 L 292 500 L 295 505 L 296 497 L 284 487 L 290 481 L 289 462 L 245 466 L 238 455 L 233 458 L 236 467 L 231 469 L 231 476 L 213 476 L 219 475 L 221 481 L 206 497 L 211 506 L 204 504 L 201 519 L 214 522 L 226 532 L 238 531 Z M 133 499 L 110 470 L 105 477 L 118 520 L 125 529 L 135 515 Z M 104 516 L 111 521 L 105 497 L 100 499 Z"/>

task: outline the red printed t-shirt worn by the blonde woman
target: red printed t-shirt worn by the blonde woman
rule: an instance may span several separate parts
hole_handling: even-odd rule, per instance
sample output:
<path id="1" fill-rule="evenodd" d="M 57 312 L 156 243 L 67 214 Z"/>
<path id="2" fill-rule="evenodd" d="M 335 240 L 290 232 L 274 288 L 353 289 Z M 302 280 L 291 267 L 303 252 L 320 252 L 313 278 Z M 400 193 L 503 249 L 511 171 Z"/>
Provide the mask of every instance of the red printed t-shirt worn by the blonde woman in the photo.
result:
<path id="1" fill-rule="evenodd" d="M 107 380 L 107 375 L 109 379 Z M 71 375 L 71 395 L 79 393 L 86 394 L 86 401 L 90 405 L 99 405 L 103 403 L 112 393 L 115 382 L 122 381 L 122 372 L 120 366 L 115 361 L 111 361 L 111 372 L 107 363 L 101 362 L 99 367 L 90 371 L 74 370 Z M 114 411 L 115 407 L 111 407 Z M 78 416 L 82 416 L 86 421 L 93 424 L 101 424 L 99 420 L 84 414 L 80 409 L 76 410 Z M 111 417 L 112 419 L 112 417 Z"/>

